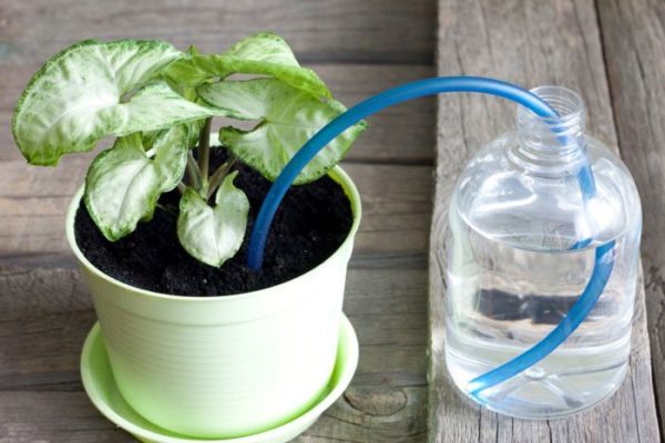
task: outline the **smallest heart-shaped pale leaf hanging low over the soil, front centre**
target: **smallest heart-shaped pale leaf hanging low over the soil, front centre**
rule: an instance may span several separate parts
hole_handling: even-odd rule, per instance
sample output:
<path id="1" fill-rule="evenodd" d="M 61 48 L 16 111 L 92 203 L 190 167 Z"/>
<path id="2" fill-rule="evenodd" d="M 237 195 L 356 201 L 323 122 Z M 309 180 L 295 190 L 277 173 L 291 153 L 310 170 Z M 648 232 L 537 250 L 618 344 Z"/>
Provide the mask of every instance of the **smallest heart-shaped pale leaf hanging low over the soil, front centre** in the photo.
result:
<path id="1" fill-rule="evenodd" d="M 219 267 L 241 248 L 249 200 L 234 186 L 237 171 L 227 175 L 215 194 L 215 207 L 193 188 L 181 197 L 177 238 L 185 250 L 204 264 Z"/>

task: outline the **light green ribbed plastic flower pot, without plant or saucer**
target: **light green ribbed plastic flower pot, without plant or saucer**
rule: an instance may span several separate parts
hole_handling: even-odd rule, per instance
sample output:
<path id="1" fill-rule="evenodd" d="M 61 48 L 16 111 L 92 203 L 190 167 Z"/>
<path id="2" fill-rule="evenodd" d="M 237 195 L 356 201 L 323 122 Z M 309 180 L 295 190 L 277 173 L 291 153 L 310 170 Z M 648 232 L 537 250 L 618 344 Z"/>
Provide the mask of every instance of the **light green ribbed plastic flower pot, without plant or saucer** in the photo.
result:
<path id="1" fill-rule="evenodd" d="M 141 415 L 195 437 L 265 431 L 306 411 L 335 364 L 360 196 L 339 167 L 354 224 L 339 249 L 285 284 L 226 297 L 180 297 L 125 285 L 96 269 L 66 237 L 90 286 L 120 392 Z"/>

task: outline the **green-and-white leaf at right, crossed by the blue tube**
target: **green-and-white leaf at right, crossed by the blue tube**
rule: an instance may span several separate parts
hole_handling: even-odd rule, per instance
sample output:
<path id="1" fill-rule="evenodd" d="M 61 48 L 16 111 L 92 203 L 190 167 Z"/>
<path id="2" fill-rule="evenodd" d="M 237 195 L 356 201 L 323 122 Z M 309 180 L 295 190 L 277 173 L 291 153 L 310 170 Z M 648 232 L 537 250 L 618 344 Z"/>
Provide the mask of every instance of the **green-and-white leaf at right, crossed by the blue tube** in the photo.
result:
<path id="1" fill-rule="evenodd" d="M 259 121 L 247 132 L 223 127 L 219 141 L 269 181 L 277 178 L 305 142 L 346 111 L 339 102 L 320 100 L 276 79 L 203 84 L 197 92 L 205 102 L 236 119 Z M 325 175 L 366 127 L 362 122 L 340 134 L 305 166 L 295 183 L 309 183 Z"/>

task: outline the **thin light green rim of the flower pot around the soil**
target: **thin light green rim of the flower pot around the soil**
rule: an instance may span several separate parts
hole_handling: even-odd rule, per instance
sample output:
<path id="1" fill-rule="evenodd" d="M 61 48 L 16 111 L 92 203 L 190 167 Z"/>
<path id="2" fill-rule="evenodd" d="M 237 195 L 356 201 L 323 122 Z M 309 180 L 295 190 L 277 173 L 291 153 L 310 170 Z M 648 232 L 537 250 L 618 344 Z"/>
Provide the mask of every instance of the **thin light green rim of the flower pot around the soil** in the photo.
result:
<path id="1" fill-rule="evenodd" d="M 137 287 L 134 287 L 132 285 L 125 284 L 125 282 L 123 282 L 121 280 L 117 280 L 114 277 L 111 277 L 111 276 L 102 272 L 96 266 L 94 266 L 92 262 L 90 262 L 90 260 L 88 260 L 88 258 L 85 257 L 85 255 L 83 254 L 83 251 L 81 251 L 81 249 L 79 248 L 79 245 L 76 244 L 76 236 L 74 234 L 74 218 L 76 216 L 76 212 L 79 209 L 79 206 L 81 204 L 81 199 L 83 197 L 83 190 L 84 190 L 84 186 L 85 186 L 84 184 L 81 185 L 81 187 L 79 187 L 79 190 L 76 190 L 76 193 L 74 194 L 74 196 L 73 196 L 73 198 L 72 198 L 72 200 L 70 203 L 69 209 L 66 212 L 66 220 L 65 220 L 66 240 L 68 240 L 68 244 L 69 244 L 70 248 L 74 253 L 74 256 L 76 256 L 76 258 L 79 259 L 79 261 L 81 262 L 81 265 L 83 265 L 85 268 L 88 268 L 91 272 L 93 272 L 98 277 L 104 279 L 105 281 L 110 282 L 111 285 L 117 286 L 117 287 L 120 287 L 122 289 L 125 289 L 125 290 L 133 291 L 133 292 L 135 292 L 137 295 L 141 295 L 141 296 L 145 296 L 145 297 L 149 297 L 149 298 L 155 298 L 155 299 L 166 299 L 166 300 L 172 300 L 172 301 L 178 301 L 180 300 L 180 301 L 183 301 L 183 302 L 184 301 L 187 301 L 187 302 L 204 302 L 204 301 L 211 302 L 211 301 L 218 301 L 218 300 L 233 301 L 233 300 L 241 300 L 241 299 L 254 298 L 254 297 L 258 297 L 258 296 L 263 296 L 263 295 L 266 295 L 268 292 L 272 292 L 275 289 L 279 289 L 279 290 L 282 290 L 282 289 L 288 289 L 289 286 L 299 284 L 300 280 L 310 277 L 311 274 L 315 274 L 320 268 L 325 267 L 341 250 L 346 249 L 347 247 L 352 248 L 352 244 L 354 244 L 354 239 L 356 237 L 356 233 L 358 231 L 358 227 L 360 226 L 360 217 L 361 217 L 361 213 L 362 213 L 360 194 L 358 193 L 358 188 L 356 187 L 356 184 L 354 183 L 354 181 L 351 179 L 351 177 L 340 166 L 335 166 L 332 169 L 330 169 L 328 172 L 328 176 L 330 176 L 330 178 L 332 178 L 335 182 L 337 182 L 339 185 L 341 185 L 341 187 L 344 189 L 344 193 L 349 198 L 349 203 L 351 204 L 351 212 L 354 214 L 354 222 L 352 222 L 351 228 L 349 229 L 349 233 L 347 234 L 346 238 L 344 239 L 344 241 L 341 243 L 341 245 L 339 245 L 339 247 L 335 250 L 335 253 L 332 253 L 323 262 L 320 262 L 319 265 L 317 265 L 313 269 L 308 270 L 307 272 L 301 274 L 298 277 L 295 277 L 295 278 L 293 278 L 290 280 L 282 282 L 279 285 L 270 286 L 268 288 L 264 288 L 264 289 L 259 289 L 259 290 L 255 290 L 255 291 L 233 293 L 233 295 L 227 295 L 227 296 L 216 296 L 216 297 L 180 296 L 180 295 L 155 292 L 155 291 L 151 291 L 151 290 L 147 290 L 147 289 L 137 288 Z M 249 233 L 246 233 L 245 235 L 248 235 L 248 234 Z"/>

